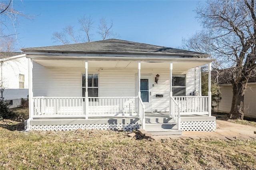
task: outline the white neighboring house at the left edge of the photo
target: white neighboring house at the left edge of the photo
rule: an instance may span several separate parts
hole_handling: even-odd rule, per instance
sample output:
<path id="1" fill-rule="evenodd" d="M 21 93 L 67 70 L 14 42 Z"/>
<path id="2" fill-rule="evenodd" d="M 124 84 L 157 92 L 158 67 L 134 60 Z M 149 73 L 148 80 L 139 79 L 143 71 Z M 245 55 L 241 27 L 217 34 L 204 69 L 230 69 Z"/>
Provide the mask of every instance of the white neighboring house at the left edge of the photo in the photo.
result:
<path id="1" fill-rule="evenodd" d="M 28 59 L 21 52 L 0 52 L 0 97 L 9 108 L 28 97 Z"/>

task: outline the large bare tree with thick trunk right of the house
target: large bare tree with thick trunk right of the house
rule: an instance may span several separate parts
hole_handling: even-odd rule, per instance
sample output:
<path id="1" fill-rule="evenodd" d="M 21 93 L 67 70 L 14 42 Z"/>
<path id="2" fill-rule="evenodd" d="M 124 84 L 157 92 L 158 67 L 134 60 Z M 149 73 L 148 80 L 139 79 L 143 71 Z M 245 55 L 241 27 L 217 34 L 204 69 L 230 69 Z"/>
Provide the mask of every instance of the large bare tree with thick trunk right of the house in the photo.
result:
<path id="1" fill-rule="evenodd" d="M 254 5 L 254 0 L 207 1 L 196 10 L 204 31 L 186 43 L 191 49 L 216 57 L 216 67 L 230 68 L 233 89 L 230 119 L 243 119 L 244 92 L 256 67 Z"/>

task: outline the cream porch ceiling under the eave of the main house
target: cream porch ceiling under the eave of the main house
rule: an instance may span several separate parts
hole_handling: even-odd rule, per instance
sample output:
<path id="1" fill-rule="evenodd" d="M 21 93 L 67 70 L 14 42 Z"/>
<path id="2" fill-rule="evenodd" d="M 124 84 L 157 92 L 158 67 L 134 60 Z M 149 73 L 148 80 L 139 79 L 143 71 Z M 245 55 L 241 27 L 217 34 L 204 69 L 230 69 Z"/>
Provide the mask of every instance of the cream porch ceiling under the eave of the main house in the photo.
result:
<path id="1" fill-rule="evenodd" d="M 34 59 L 34 62 L 43 65 L 44 67 L 85 67 L 84 60 L 46 60 L 46 59 Z M 173 71 L 187 71 L 188 69 L 198 67 L 200 65 L 208 64 L 209 61 L 172 61 Z M 137 61 L 88 61 L 88 69 L 90 68 L 128 68 L 138 69 Z M 141 61 L 141 69 L 168 69 L 170 68 L 170 61 Z"/>

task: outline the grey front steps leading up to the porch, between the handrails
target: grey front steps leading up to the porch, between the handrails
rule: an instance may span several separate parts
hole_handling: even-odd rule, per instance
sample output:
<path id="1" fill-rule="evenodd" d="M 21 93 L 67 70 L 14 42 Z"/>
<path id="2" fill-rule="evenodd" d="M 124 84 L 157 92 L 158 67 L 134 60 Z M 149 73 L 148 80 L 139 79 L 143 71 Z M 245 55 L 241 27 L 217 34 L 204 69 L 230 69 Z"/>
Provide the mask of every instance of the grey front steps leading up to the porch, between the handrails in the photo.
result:
<path id="1" fill-rule="evenodd" d="M 175 123 L 146 123 L 146 130 L 152 135 L 182 134 Z"/>

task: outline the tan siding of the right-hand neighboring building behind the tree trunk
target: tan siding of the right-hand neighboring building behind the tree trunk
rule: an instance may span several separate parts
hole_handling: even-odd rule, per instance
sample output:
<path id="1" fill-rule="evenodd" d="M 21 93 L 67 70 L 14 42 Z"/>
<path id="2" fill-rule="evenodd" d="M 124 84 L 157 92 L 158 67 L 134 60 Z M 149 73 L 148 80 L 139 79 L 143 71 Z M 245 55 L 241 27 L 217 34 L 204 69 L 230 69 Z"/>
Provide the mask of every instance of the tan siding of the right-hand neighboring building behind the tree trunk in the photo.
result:
<path id="1" fill-rule="evenodd" d="M 219 104 L 219 111 L 230 112 L 232 103 L 232 86 L 220 86 L 221 101 Z M 256 118 L 256 83 L 249 83 L 244 94 L 244 116 Z M 216 108 L 218 109 L 218 108 Z"/>

